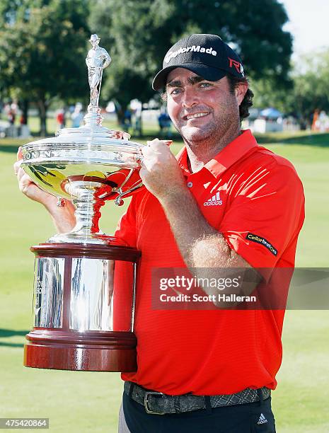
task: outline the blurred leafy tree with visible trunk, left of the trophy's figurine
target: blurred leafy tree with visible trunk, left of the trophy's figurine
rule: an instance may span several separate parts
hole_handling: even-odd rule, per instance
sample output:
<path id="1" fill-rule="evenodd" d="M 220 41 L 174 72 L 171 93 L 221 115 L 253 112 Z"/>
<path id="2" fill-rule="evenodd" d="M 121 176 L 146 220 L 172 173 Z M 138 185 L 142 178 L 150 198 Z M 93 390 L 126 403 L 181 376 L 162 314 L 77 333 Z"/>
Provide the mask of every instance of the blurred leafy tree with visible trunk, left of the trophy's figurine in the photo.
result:
<path id="1" fill-rule="evenodd" d="M 88 0 L 1 0 L 0 87 L 25 105 L 37 103 L 42 135 L 52 98 L 88 94 L 88 6 Z"/>

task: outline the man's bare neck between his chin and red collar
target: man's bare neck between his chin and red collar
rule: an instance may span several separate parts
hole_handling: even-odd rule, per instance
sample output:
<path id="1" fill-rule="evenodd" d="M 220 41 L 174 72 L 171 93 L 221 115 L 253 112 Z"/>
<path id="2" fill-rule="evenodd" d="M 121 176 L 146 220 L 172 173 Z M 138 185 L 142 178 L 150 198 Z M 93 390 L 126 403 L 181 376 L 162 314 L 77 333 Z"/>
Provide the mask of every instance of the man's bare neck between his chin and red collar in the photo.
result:
<path id="1" fill-rule="evenodd" d="M 212 139 L 204 140 L 204 142 L 187 142 L 184 139 L 187 150 L 187 164 L 191 173 L 200 171 L 214 156 L 219 154 L 228 144 L 233 142 L 236 137 L 241 134 L 241 129 L 238 127 L 234 132 L 225 134 L 214 142 Z"/>

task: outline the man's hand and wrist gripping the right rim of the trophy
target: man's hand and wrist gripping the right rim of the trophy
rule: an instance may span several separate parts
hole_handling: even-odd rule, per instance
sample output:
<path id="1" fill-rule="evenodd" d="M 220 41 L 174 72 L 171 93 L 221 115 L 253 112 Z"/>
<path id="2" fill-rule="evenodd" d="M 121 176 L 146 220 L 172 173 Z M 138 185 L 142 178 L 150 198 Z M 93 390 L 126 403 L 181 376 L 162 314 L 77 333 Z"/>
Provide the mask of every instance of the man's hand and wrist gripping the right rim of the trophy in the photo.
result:
<path id="1" fill-rule="evenodd" d="M 183 173 L 164 140 L 154 139 L 142 149 L 144 156 L 139 175 L 146 188 L 158 200 L 178 195 L 185 187 Z"/>

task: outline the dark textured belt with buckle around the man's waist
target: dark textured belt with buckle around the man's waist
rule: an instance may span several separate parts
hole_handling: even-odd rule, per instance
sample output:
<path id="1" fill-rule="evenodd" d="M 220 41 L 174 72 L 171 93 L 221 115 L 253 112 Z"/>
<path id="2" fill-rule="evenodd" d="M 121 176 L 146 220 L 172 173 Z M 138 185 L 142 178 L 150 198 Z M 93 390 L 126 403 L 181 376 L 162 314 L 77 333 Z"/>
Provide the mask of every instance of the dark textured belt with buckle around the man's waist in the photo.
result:
<path id="1" fill-rule="evenodd" d="M 156 415 L 207 409 L 207 405 L 210 405 L 211 408 L 242 405 L 243 403 L 259 401 L 260 395 L 262 400 L 266 400 L 271 395 L 271 390 L 263 386 L 258 390 L 246 388 L 236 394 L 222 394 L 219 396 L 193 396 L 192 394 L 168 396 L 156 391 L 148 391 L 133 382 L 125 382 L 124 391 L 132 400 L 143 405 L 147 413 Z"/>

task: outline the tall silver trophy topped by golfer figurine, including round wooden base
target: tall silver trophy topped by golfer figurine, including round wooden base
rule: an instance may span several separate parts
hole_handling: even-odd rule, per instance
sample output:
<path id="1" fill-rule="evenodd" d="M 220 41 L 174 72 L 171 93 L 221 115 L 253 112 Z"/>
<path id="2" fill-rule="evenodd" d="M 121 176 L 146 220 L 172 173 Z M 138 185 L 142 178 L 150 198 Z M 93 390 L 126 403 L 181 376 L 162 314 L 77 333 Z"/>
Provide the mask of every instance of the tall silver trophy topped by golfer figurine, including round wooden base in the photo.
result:
<path id="1" fill-rule="evenodd" d="M 47 369 L 134 371 L 134 296 L 140 253 L 98 228 L 105 200 L 142 187 L 142 144 L 102 126 L 98 100 L 110 55 L 91 35 L 86 57 L 91 100 L 85 125 L 23 146 L 22 168 L 34 182 L 72 200 L 76 226 L 33 246 L 33 330 L 25 366 Z"/>

